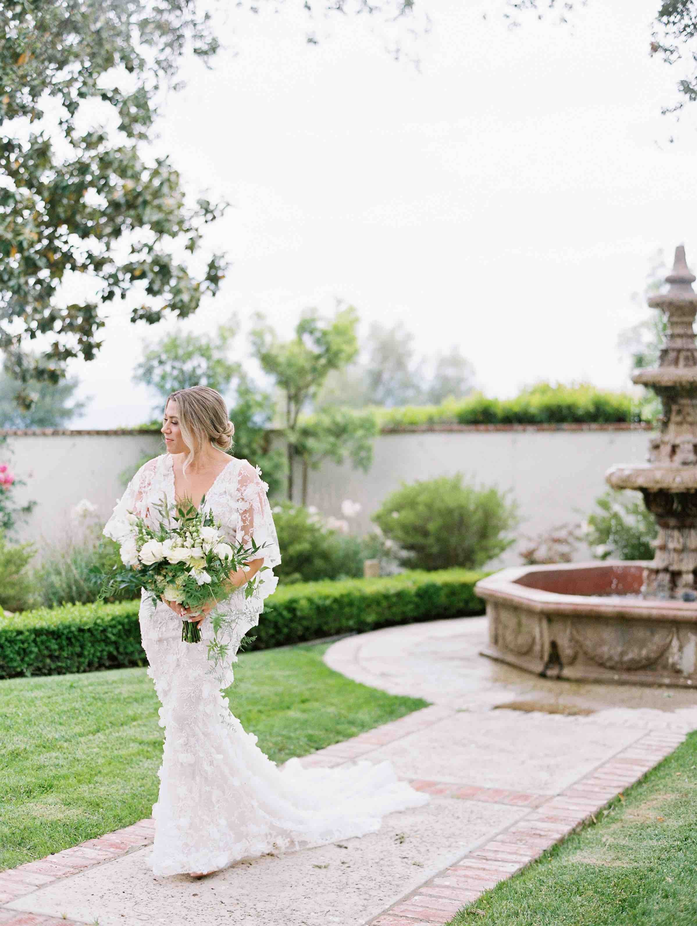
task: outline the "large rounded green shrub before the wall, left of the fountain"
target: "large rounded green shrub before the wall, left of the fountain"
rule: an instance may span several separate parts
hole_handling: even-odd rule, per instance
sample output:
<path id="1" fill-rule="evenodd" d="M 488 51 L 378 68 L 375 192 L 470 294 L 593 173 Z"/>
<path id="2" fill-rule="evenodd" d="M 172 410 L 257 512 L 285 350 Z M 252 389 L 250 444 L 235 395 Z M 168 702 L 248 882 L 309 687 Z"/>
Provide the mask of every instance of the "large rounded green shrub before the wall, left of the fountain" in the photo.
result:
<path id="1" fill-rule="evenodd" d="M 514 538 L 517 505 L 493 486 L 463 482 L 461 473 L 402 483 L 372 516 L 413 569 L 477 569 Z"/>

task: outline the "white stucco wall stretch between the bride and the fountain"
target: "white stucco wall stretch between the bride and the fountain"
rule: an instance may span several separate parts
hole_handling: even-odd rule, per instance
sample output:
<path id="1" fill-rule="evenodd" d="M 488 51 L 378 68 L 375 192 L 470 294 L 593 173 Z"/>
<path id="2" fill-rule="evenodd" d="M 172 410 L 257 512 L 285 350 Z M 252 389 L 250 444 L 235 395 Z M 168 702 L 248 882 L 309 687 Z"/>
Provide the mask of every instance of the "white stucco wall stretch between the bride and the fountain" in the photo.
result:
<path id="1" fill-rule="evenodd" d="M 606 491 L 604 473 L 615 463 L 646 458 L 649 433 L 637 431 L 466 431 L 381 434 L 368 473 L 327 463 L 310 471 L 308 503 L 341 516 L 344 498 L 363 510 L 355 529 L 370 528 L 370 514 L 401 482 L 461 472 L 477 483 L 510 490 L 519 505 L 519 532 L 535 535 L 579 521 Z M 301 476 L 295 485 L 299 498 Z M 519 562 L 516 546 L 495 565 Z M 587 557 L 588 550 L 579 550 Z"/>

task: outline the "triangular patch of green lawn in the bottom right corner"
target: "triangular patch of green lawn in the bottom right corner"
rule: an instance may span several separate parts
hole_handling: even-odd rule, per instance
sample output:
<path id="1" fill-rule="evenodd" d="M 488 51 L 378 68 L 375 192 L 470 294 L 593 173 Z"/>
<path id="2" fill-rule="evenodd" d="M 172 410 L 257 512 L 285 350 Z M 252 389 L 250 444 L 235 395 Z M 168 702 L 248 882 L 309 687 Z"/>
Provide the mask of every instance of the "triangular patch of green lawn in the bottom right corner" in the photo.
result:
<path id="1" fill-rule="evenodd" d="M 694 926 L 697 733 L 623 797 L 452 926 Z"/>

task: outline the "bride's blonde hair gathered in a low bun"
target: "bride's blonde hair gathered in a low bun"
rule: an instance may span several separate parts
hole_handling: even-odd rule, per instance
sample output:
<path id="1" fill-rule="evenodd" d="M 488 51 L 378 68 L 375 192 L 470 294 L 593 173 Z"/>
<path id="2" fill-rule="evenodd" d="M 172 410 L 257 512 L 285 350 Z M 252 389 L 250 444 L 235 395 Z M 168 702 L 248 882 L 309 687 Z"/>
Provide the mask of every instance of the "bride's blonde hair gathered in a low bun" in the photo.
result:
<path id="1" fill-rule="evenodd" d="M 208 386 L 178 389 L 168 395 L 166 410 L 170 401 L 177 403 L 181 437 L 189 448 L 182 467 L 184 472 L 204 449 L 206 441 L 219 450 L 230 450 L 235 426 L 228 417 L 225 399 L 215 389 Z"/>

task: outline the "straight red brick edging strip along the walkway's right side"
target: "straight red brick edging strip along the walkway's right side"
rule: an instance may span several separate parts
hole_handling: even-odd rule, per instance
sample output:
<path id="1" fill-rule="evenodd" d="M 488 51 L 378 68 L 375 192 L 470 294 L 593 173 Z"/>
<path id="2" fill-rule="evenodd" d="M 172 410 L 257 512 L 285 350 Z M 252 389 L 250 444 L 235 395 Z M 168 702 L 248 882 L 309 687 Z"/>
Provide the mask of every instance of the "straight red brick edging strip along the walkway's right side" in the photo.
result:
<path id="1" fill-rule="evenodd" d="M 539 807 L 507 830 L 370 920 L 372 926 L 443 926 L 461 907 L 594 819 L 598 810 L 638 782 L 684 739 L 684 733 L 647 732 L 560 795 L 544 798 Z"/>

